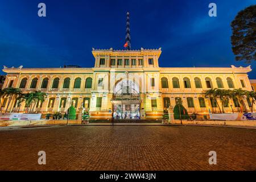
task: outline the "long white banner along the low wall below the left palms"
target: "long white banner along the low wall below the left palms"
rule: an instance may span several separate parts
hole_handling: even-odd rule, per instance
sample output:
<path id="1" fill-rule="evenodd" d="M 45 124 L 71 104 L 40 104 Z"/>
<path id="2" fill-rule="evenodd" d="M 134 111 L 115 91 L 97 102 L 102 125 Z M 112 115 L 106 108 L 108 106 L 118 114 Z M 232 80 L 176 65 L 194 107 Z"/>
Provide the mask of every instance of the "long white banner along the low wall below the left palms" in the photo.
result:
<path id="1" fill-rule="evenodd" d="M 4 113 L 0 120 L 39 120 L 42 114 Z"/>

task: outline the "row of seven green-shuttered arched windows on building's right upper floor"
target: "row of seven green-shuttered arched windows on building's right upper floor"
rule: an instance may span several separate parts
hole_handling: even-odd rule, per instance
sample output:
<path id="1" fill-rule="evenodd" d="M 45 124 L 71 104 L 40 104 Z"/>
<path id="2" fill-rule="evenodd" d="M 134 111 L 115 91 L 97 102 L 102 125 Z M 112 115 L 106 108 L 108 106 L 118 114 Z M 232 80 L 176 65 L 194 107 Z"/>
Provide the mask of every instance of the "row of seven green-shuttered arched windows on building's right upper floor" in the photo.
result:
<path id="1" fill-rule="evenodd" d="M 196 88 L 203 88 L 201 79 L 199 77 L 195 77 L 194 82 L 195 82 Z M 228 83 L 229 88 L 234 88 L 234 83 L 232 78 L 230 77 L 226 78 L 226 82 Z M 216 78 L 216 83 L 218 88 L 224 88 L 224 84 L 220 77 Z M 189 80 L 188 77 L 183 78 L 183 84 L 184 84 L 184 88 L 191 88 L 191 81 Z M 213 88 L 212 80 L 209 77 L 205 78 L 205 84 L 207 88 Z M 162 85 L 162 88 L 169 88 L 168 79 L 166 77 L 161 78 L 161 85 Z M 179 78 L 177 77 L 172 78 L 172 87 L 180 88 Z"/>

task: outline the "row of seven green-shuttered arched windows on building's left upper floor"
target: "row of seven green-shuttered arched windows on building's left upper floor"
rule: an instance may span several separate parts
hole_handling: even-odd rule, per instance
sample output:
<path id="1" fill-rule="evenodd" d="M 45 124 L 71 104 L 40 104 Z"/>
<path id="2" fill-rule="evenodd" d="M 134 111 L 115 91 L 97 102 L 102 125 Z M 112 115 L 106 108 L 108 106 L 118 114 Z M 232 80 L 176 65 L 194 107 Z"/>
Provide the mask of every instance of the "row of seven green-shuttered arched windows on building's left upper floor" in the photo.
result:
<path id="1" fill-rule="evenodd" d="M 80 77 L 77 77 L 74 81 L 74 85 L 73 85 L 73 88 L 74 89 L 80 89 L 81 88 L 81 78 Z M 60 82 L 60 78 L 56 77 L 53 79 L 52 81 L 52 85 L 51 85 L 51 88 L 52 89 L 57 89 L 59 88 L 59 82 Z M 63 88 L 64 89 L 69 89 L 70 87 L 70 82 L 71 82 L 71 78 L 67 77 L 64 79 L 64 82 L 63 82 Z M 49 84 L 49 78 L 44 78 L 42 80 L 42 84 L 41 84 L 41 89 L 46 89 L 47 86 Z M 20 89 L 23 89 L 23 88 L 26 88 L 26 85 L 27 85 L 27 78 L 23 78 L 21 81 L 20 81 L 20 84 L 19 84 L 19 88 Z M 33 78 L 32 81 L 31 81 L 31 84 L 30 84 L 30 89 L 35 89 L 36 86 L 38 85 L 38 78 Z M 91 77 L 88 77 L 86 78 L 85 80 L 85 88 L 89 89 L 89 88 L 92 88 L 92 78 Z"/>

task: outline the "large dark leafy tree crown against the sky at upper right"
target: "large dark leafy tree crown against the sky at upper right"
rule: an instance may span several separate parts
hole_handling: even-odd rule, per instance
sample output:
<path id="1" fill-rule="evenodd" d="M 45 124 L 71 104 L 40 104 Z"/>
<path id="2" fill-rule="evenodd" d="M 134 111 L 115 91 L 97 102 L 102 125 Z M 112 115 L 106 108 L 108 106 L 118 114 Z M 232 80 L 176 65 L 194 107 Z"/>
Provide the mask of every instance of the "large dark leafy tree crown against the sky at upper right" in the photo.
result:
<path id="1" fill-rule="evenodd" d="M 232 51 L 236 60 L 250 63 L 256 60 L 256 5 L 240 11 L 231 23 Z"/>

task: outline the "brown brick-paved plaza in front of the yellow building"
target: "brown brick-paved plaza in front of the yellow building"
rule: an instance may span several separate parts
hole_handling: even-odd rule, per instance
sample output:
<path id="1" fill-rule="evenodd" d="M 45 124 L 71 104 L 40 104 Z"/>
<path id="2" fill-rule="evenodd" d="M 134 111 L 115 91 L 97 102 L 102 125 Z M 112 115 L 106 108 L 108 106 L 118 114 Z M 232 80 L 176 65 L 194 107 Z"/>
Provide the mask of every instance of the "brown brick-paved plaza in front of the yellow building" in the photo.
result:
<path id="1" fill-rule="evenodd" d="M 256 130 L 200 126 L 54 126 L 0 130 L 1 170 L 256 169 Z M 46 151 L 46 165 L 38 151 Z M 208 152 L 217 152 L 209 165 Z"/>

